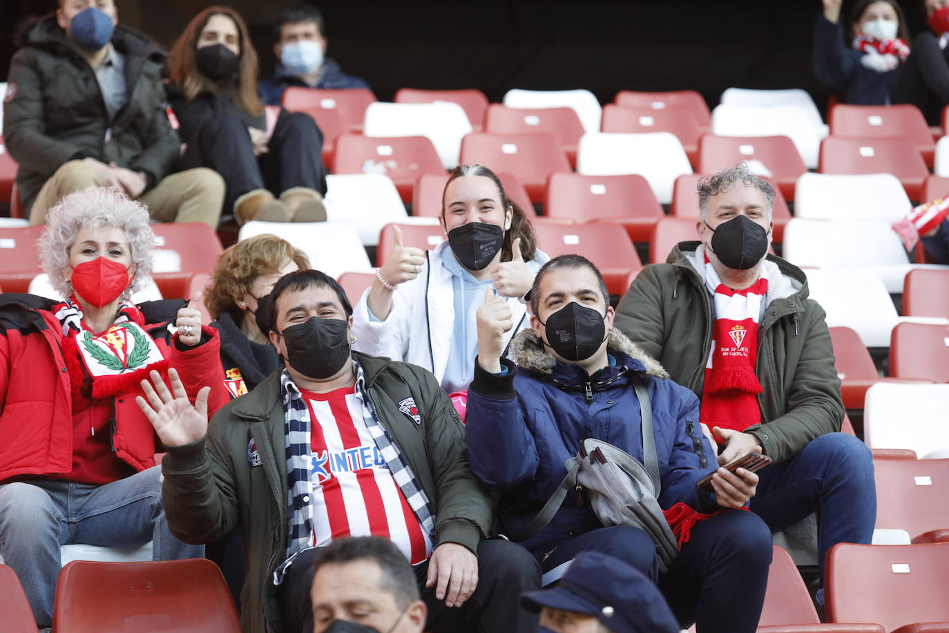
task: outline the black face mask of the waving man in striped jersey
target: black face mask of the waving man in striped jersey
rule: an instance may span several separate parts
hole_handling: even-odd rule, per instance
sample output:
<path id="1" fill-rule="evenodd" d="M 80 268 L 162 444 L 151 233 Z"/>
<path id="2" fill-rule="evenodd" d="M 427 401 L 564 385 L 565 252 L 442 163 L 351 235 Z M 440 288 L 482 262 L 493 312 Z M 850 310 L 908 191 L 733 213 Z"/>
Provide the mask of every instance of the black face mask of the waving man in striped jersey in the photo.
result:
<path id="1" fill-rule="evenodd" d="M 284 328 L 288 363 L 307 378 L 322 381 L 333 376 L 349 358 L 348 326 L 343 319 L 314 316 Z"/>

